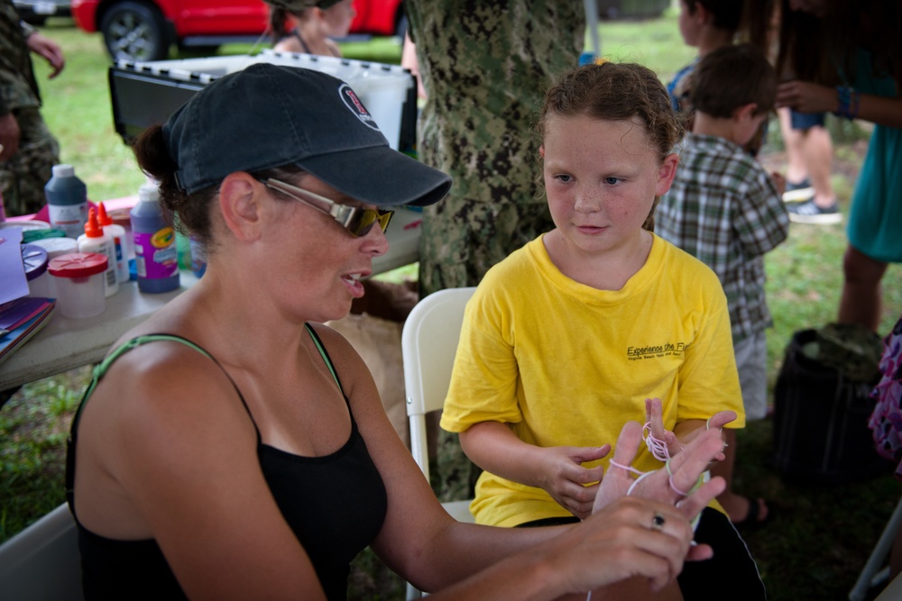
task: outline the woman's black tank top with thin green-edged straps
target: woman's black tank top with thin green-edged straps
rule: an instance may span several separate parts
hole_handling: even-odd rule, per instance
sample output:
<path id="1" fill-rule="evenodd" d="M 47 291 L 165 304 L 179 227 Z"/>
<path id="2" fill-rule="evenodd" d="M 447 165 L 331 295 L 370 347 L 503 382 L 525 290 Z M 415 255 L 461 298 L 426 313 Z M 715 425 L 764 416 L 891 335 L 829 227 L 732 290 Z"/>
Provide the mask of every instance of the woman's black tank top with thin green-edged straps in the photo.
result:
<path id="1" fill-rule="evenodd" d="M 313 328 L 309 325 L 306 328 L 341 390 L 341 382 L 322 341 Z M 99 536 L 78 522 L 75 511 L 75 452 L 81 411 L 97 382 L 116 359 L 134 347 L 152 341 L 177 341 L 213 360 L 232 382 L 253 423 L 253 415 L 247 409 L 241 391 L 222 365 L 197 344 L 179 336 L 139 336 L 117 347 L 95 368 L 94 378 L 72 421 L 66 461 L 66 492 L 69 509 L 78 525 L 86 601 L 187 598 L 156 541 L 118 541 Z M 348 412 L 351 412 L 350 405 Z M 357 430 L 354 414 L 351 413 L 348 441 L 341 449 L 324 457 L 301 457 L 262 444 L 256 423 L 253 427 L 257 431 L 257 456 L 263 477 L 281 514 L 307 551 L 326 596 L 346 599 L 350 562 L 379 533 L 387 507 L 382 477 Z M 223 566 L 223 569 L 228 567 Z"/>

